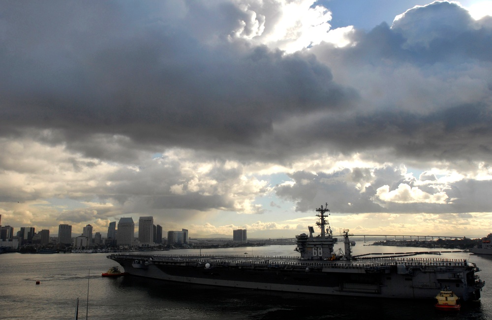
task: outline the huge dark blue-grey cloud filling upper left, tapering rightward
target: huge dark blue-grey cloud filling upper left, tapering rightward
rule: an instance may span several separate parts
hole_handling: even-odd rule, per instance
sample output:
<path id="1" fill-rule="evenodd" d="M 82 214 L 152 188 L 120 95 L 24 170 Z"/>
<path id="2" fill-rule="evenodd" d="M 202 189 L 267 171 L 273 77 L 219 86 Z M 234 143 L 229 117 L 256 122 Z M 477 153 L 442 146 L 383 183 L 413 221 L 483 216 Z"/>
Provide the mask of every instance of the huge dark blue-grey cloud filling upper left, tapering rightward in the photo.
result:
<path id="1" fill-rule="evenodd" d="M 52 129 L 53 143 L 61 135 L 95 157 L 110 154 L 111 141 L 94 148 L 97 134 L 129 137 L 126 147 L 220 150 L 250 146 L 274 121 L 346 107 L 355 96 L 314 56 L 241 42 L 207 46 L 173 26 L 140 22 L 117 3 L 93 8 L 102 13 L 76 3 L 48 2 L 40 11 L 9 4 L 1 17 L 3 135 Z M 32 21 L 17 19 L 23 9 Z M 114 10 L 127 25 L 111 19 Z"/>

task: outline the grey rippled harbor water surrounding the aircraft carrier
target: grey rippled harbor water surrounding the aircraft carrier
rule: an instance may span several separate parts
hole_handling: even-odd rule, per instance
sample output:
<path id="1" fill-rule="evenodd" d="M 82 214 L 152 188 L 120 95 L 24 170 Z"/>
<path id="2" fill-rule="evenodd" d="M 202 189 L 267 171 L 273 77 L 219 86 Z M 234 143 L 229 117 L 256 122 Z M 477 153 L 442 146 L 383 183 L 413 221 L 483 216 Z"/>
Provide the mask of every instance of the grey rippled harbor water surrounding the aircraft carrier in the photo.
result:
<path id="1" fill-rule="evenodd" d="M 295 255 L 294 246 L 202 250 L 202 254 Z M 359 246 L 366 252 L 410 252 L 422 248 Z M 169 253 L 198 253 L 177 250 Z M 162 253 L 162 252 L 159 252 Z M 164 252 L 165 253 L 165 252 Z M 434 310 L 430 301 L 318 296 L 216 288 L 145 279 L 103 278 L 114 262 L 106 254 L 0 255 L 0 319 L 492 319 L 492 256 L 443 253 L 441 258 L 468 259 L 486 281 L 479 302 L 458 313 Z M 39 285 L 35 282 L 40 281 Z M 89 303 L 87 293 L 89 284 Z"/>

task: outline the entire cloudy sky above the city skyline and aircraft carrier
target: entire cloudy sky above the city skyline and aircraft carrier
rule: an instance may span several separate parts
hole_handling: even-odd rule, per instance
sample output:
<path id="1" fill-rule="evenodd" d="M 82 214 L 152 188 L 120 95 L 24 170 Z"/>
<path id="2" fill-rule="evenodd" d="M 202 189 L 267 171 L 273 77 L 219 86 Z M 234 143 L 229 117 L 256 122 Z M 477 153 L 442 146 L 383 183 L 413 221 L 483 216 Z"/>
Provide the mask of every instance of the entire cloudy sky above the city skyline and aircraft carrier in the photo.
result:
<path id="1" fill-rule="evenodd" d="M 368 5 L 371 3 L 371 5 Z M 492 1 L 0 7 L 1 225 L 492 231 Z M 138 231 L 136 226 L 135 231 Z"/>

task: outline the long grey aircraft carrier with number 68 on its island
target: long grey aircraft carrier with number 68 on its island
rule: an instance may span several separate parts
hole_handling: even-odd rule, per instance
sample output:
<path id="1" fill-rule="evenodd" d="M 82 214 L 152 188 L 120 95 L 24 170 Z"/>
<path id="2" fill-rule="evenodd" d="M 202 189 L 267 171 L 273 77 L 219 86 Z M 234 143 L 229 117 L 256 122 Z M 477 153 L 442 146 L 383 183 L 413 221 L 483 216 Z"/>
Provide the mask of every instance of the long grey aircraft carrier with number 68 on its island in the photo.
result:
<path id="1" fill-rule="evenodd" d="M 347 229 L 340 241 L 344 250 L 336 253 L 327 207 L 316 209 L 319 235 L 309 226 L 309 235 L 296 236 L 300 257 L 116 253 L 108 258 L 130 275 L 202 285 L 406 299 L 433 299 L 449 287 L 462 301 L 480 298 L 480 269 L 466 260 L 354 257 Z"/>

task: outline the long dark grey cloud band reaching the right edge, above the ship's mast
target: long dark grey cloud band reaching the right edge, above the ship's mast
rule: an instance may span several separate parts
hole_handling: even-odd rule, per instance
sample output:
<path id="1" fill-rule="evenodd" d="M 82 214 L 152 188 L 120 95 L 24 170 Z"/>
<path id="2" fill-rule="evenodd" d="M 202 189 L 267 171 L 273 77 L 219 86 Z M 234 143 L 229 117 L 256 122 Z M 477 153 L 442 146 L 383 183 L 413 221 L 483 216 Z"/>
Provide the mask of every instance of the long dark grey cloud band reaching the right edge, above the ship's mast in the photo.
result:
<path id="1" fill-rule="evenodd" d="M 389 147 L 393 156 L 420 160 L 486 160 L 491 155 L 492 113 L 487 105 L 446 107 L 428 114 L 385 110 L 330 117 L 298 132 L 299 141 L 328 141 L 350 153 Z"/>

